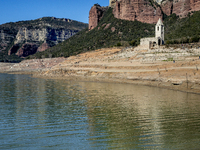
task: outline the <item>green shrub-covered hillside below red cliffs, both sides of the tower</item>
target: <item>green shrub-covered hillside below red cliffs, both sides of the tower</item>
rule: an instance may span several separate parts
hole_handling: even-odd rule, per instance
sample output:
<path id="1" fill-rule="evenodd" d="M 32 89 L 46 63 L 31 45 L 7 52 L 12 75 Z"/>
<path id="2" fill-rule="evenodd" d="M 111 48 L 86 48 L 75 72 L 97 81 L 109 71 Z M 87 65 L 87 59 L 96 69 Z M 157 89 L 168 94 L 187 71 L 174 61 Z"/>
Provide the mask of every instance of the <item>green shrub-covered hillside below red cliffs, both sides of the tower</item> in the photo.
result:
<path id="1" fill-rule="evenodd" d="M 180 39 L 186 39 L 186 42 L 197 42 L 200 35 L 198 16 L 200 12 L 194 12 L 192 16 L 183 19 L 175 14 L 166 17 L 164 19 L 166 43 L 181 43 Z M 38 52 L 29 58 L 68 57 L 105 47 L 135 46 L 139 44 L 142 37 L 154 37 L 154 28 L 153 24 L 116 19 L 112 8 L 109 8 L 93 30 L 85 29 L 45 52 Z"/>

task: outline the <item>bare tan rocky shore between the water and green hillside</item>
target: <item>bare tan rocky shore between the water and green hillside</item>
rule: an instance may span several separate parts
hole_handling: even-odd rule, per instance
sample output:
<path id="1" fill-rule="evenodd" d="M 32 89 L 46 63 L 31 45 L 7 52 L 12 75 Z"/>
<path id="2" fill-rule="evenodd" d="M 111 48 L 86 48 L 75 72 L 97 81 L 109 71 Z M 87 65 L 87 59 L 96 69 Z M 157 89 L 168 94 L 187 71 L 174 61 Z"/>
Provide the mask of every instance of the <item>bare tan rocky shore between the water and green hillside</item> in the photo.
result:
<path id="1" fill-rule="evenodd" d="M 69 58 L 0 63 L 0 72 L 79 81 L 132 83 L 200 94 L 199 56 L 199 48 L 107 48 Z"/>

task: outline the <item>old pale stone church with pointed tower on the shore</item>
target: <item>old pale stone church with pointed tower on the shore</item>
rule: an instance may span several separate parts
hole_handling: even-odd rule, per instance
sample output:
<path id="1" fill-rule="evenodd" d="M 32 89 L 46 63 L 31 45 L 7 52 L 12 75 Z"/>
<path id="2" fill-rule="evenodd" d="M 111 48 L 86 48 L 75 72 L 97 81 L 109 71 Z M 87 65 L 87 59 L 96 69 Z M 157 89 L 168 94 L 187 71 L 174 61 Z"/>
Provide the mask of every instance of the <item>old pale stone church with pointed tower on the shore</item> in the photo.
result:
<path id="1" fill-rule="evenodd" d="M 140 39 L 140 46 L 150 49 L 160 45 L 164 45 L 164 24 L 159 18 L 157 24 L 155 25 L 155 37 Z"/>

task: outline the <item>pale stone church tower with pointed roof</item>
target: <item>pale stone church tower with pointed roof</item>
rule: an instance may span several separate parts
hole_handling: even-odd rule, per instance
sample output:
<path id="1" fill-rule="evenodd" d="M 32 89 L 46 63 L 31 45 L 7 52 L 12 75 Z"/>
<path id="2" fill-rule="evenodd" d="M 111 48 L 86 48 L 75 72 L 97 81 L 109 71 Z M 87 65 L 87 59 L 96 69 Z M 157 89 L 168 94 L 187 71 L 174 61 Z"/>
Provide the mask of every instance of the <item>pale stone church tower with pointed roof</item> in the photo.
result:
<path id="1" fill-rule="evenodd" d="M 158 39 L 158 45 L 164 44 L 164 24 L 162 23 L 162 20 L 159 18 L 156 27 L 155 27 L 155 34 L 156 38 Z"/>

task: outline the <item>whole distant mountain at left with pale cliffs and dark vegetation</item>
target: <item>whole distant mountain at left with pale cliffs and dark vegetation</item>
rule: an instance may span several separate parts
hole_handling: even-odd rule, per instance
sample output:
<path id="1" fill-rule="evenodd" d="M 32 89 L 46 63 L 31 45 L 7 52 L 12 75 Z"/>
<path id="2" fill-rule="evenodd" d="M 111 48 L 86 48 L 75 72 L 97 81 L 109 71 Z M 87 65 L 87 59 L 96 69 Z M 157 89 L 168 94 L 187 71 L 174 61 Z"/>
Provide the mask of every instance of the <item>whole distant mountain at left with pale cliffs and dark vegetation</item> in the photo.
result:
<path id="1" fill-rule="evenodd" d="M 87 27 L 85 23 L 55 17 L 0 25 L 0 62 L 18 62 L 23 57 L 55 46 Z"/>

